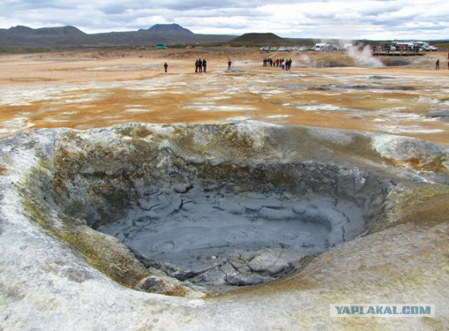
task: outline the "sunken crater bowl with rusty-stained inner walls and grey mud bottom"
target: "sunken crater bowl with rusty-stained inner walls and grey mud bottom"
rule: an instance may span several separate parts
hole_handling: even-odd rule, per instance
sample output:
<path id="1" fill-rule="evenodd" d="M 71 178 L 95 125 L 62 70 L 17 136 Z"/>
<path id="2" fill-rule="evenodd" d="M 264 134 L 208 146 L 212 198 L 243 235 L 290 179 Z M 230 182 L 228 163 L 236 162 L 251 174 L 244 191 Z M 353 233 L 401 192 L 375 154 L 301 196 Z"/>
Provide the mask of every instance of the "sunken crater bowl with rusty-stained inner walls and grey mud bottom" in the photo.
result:
<path id="1" fill-rule="evenodd" d="M 116 268 L 113 279 L 164 292 L 160 279 L 210 288 L 286 276 L 305 257 L 356 238 L 380 214 L 385 188 L 372 173 L 318 161 L 286 162 L 273 157 L 272 145 L 250 141 L 250 133 L 236 138 L 219 127 L 199 130 L 201 135 L 192 135 L 183 129 L 170 139 L 123 130 L 118 136 L 65 135 L 47 156 L 46 171 L 29 185 L 32 198 L 42 199 L 39 208 L 58 213 L 46 227 L 86 250 L 108 276 Z M 117 240 L 99 248 L 104 239 L 97 243 L 89 234 L 92 242 L 80 244 L 80 236 L 67 235 L 67 224 L 82 240 L 88 238 L 86 226 Z M 135 271 L 126 270 L 128 257 L 109 254 L 120 243 L 145 273 L 130 276 Z"/>

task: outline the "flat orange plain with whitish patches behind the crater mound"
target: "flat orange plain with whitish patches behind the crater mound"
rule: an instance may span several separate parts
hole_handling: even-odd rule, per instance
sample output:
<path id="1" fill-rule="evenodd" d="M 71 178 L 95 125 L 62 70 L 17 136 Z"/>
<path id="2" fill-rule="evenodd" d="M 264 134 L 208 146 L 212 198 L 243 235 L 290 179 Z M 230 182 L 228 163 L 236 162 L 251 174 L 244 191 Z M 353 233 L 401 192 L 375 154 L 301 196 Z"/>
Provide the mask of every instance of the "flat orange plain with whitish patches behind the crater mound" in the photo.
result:
<path id="1" fill-rule="evenodd" d="M 293 67 L 263 67 L 267 56 L 292 58 Z M 196 58 L 208 60 L 207 73 L 194 72 Z M 225 47 L 0 55 L 0 137 L 31 128 L 246 119 L 449 144 L 446 58 L 390 57 L 381 60 L 408 65 L 371 67 L 379 59 L 362 53 Z"/>

